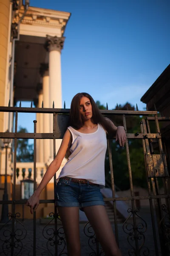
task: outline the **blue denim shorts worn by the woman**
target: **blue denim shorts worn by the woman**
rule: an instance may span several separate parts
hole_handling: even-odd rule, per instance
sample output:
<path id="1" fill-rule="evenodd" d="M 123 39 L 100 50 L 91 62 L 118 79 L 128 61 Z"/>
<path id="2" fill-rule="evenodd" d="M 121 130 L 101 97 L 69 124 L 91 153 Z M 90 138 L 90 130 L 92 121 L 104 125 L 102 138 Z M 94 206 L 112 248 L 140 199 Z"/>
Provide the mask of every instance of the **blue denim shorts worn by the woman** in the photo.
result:
<path id="1" fill-rule="evenodd" d="M 98 184 L 73 183 L 71 178 L 65 180 L 60 178 L 55 187 L 55 200 L 57 206 L 83 208 L 94 205 L 104 205 L 102 193 Z"/>

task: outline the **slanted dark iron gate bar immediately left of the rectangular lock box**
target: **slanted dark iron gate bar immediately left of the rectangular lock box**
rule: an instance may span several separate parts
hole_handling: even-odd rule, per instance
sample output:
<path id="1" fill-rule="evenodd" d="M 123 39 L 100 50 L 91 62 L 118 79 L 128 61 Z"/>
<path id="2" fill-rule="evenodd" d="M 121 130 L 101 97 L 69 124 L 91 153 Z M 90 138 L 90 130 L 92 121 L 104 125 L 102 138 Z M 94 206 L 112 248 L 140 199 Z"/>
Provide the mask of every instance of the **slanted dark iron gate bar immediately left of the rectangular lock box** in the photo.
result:
<path id="1" fill-rule="evenodd" d="M 147 127 L 146 127 L 146 123 L 147 123 Z M 147 131 L 150 131 L 150 127 L 149 127 L 149 122 L 146 120 L 142 119 L 142 122 L 140 123 L 140 127 L 141 127 L 141 131 L 143 133 L 145 133 Z M 144 155 L 147 154 L 147 149 L 146 149 L 146 144 L 145 141 L 142 140 L 142 144 L 143 144 L 143 150 L 144 150 Z M 148 152 L 149 153 L 149 152 Z M 145 162 L 145 168 L 147 170 L 147 163 L 146 163 L 146 159 L 144 157 L 144 162 Z M 147 172 L 146 172 L 147 174 Z M 152 221 L 152 229 L 153 229 L 153 240 L 154 240 L 154 245 L 155 245 L 155 253 L 156 256 L 159 256 L 159 250 L 158 250 L 158 242 L 157 242 L 157 237 L 156 237 L 156 227 L 155 227 L 155 221 L 154 221 L 154 211 L 153 211 L 153 201 L 152 201 L 152 196 L 151 196 L 151 187 L 150 187 L 150 178 L 147 177 L 147 188 L 148 188 L 148 193 L 149 193 L 149 204 L 150 204 L 150 214 L 151 214 L 151 221 Z"/>

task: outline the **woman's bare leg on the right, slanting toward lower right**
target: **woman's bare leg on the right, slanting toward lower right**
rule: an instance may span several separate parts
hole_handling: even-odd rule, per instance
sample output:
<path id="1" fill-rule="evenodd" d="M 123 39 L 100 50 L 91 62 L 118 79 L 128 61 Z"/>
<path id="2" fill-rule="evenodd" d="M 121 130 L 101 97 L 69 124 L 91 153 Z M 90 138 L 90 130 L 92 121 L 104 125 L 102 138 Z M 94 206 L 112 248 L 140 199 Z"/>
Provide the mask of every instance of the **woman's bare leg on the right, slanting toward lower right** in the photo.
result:
<path id="1" fill-rule="evenodd" d="M 102 245 L 105 255 L 121 256 L 105 207 L 103 205 L 89 206 L 84 207 L 84 211 Z"/>

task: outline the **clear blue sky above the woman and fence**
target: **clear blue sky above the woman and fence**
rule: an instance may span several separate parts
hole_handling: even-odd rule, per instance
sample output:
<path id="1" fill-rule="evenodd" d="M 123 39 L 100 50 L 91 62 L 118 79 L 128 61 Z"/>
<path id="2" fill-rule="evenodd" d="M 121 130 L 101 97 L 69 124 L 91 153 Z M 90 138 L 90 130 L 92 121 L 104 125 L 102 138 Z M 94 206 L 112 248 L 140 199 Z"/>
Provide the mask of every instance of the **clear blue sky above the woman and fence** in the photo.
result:
<path id="1" fill-rule="evenodd" d="M 141 97 L 170 63 L 169 0 L 30 0 L 30 5 L 71 12 L 61 57 L 66 108 L 83 91 L 110 109 L 130 102 L 143 110 Z"/>

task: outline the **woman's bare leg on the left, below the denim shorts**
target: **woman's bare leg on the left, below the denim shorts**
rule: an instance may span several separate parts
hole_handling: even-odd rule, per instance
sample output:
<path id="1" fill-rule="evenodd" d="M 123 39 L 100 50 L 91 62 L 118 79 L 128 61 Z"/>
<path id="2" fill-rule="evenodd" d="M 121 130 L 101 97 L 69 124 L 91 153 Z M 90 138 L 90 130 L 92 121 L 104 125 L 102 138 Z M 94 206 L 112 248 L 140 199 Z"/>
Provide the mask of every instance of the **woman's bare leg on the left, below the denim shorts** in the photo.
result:
<path id="1" fill-rule="evenodd" d="M 79 207 L 57 207 L 65 232 L 68 256 L 80 256 Z"/>

